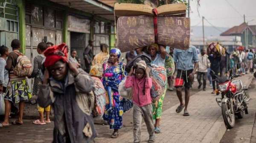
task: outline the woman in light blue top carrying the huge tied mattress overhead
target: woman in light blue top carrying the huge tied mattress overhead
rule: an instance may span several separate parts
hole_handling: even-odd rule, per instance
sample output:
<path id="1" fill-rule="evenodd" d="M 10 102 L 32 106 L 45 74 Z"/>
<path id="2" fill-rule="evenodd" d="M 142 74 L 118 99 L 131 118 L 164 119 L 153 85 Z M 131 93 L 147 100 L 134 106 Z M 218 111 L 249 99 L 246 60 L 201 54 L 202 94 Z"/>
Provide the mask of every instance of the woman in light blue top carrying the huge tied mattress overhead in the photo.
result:
<path id="1" fill-rule="evenodd" d="M 165 59 L 166 59 L 166 48 L 163 45 L 157 45 L 157 44 L 152 44 L 147 47 L 148 53 L 145 53 L 142 51 L 142 48 L 137 48 L 136 52 L 137 54 L 142 53 L 146 56 L 148 56 L 151 59 L 151 64 L 156 64 L 158 66 L 164 67 L 165 64 Z M 159 53 L 160 52 L 160 53 Z M 161 133 L 159 129 L 159 123 L 160 123 L 160 118 L 162 116 L 162 106 L 163 106 L 163 98 L 166 94 L 167 90 L 167 82 L 165 84 L 165 90 L 163 92 L 163 95 L 161 98 L 157 101 L 152 101 L 153 103 L 153 119 L 156 120 L 155 124 L 155 133 Z"/>

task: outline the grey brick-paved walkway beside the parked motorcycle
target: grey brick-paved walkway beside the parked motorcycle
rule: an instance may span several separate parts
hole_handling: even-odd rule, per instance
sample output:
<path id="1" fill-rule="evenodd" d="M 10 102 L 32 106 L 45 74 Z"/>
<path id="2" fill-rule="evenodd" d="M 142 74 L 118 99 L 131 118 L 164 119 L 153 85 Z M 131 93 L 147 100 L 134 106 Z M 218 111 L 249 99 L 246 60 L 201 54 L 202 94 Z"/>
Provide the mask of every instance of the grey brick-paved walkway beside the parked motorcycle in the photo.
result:
<path id="1" fill-rule="evenodd" d="M 244 85 L 250 84 L 252 75 L 237 78 Z M 215 101 L 216 95 L 210 94 L 211 89 L 193 95 L 189 101 L 190 116 L 184 117 L 183 112 L 177 114 L 177 105 L 162 113 L 161 134 L 156 135 L 156 143 L 219 143 L 226 131 L 221 108 Z M 220 96 L 220 95 L 219 95 Z M 142 127 L 141 142 L 147 142 L 148 132 L 145 124 Z M 106 142 L 107 140 L 104 140 Z M 111 143 L 133 143 L 133 132 L 127 132 Z M 102 140 L 103 142 L 103 140 Z"/>

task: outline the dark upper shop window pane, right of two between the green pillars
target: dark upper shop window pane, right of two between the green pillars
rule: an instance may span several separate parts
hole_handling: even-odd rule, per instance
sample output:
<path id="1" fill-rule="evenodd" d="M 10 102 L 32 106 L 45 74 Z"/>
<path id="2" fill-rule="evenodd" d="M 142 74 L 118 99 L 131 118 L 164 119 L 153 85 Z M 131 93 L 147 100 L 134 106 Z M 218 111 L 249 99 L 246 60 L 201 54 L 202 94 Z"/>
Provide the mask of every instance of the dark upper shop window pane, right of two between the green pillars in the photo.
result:
<path id="1" fill-rule="evenodd" d="M 55 28 L 55 10 L 45 8 L 45 26 L 49 28 Z"/>

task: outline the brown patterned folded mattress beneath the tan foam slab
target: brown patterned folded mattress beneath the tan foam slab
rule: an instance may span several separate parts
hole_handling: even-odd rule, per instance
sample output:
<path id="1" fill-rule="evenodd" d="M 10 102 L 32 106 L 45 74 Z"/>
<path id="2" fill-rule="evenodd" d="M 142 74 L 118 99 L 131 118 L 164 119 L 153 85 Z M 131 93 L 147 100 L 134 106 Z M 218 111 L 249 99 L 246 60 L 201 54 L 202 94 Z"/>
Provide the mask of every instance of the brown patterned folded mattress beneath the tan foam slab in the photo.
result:
<path id="1" fill-rule="evenodd" d="M 122 52 L 155 43 L 154 17 L 131 16 L 117 20 L 116 47 Z M 157 43 L 181 50 L 189 48 L 190 19 L 157 17 Z"/>

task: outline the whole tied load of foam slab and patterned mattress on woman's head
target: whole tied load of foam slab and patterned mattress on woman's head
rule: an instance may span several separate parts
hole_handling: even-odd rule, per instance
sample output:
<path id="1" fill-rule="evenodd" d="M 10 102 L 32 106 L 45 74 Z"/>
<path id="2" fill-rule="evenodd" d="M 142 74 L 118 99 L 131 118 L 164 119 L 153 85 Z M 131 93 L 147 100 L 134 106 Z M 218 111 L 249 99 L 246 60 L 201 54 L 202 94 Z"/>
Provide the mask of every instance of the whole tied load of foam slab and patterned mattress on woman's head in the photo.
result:
<path id="1" fill-rule="evenodd" d="M 116 3 L 117 42 L 122 52 L 135 50 L 154 43 L 189 48 L 190 19 L 186 18 L 184 3 L 167 4 L 158 8 L 150 6 Z"/>

